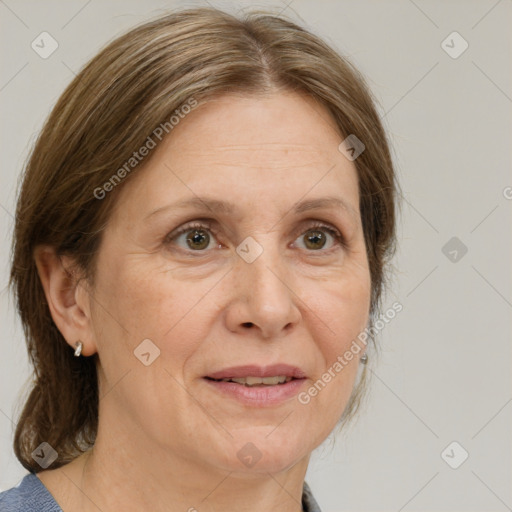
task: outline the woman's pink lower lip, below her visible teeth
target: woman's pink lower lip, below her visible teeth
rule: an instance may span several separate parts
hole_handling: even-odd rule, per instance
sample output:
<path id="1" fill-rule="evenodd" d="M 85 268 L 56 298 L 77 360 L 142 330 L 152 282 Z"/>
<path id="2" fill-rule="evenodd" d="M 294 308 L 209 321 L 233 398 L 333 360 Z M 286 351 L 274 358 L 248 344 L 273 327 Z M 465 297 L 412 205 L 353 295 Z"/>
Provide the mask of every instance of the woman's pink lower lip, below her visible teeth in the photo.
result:
<path id="1" fill-rule="evenodd" d="M 236 382 L 224 382 L 218 380 L 204 379 L 213 389 L 226 396 L 230 396 L 245 405 L 252 407 L 265 407 L 277 405 L 293 398 L 299 393 L 306 379 L 293 379 L 284 384 L 275 386 L 253 386 L 248 387 Z"/>

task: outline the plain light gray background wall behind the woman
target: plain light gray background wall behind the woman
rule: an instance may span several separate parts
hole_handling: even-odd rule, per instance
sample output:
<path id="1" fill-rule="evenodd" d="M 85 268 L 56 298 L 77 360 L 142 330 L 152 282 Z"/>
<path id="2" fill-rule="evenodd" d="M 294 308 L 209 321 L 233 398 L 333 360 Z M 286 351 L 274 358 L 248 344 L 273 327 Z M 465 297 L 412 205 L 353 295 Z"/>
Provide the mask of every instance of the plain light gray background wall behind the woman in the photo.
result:
<path id="1" fill-rule="evenodd" d="M 12 452 L 12 418 L 30 371 L 5 284 L 30 144 L 73 74 L 108 40 L 166 9 L 204 4 L 0 1 L 1 489 L 26 473 Z M 382 332 L 358 421 L 314 453 L 306 480 L 324 512 L 512 510 L 512 1 L 252 6 L 285 12 L 367 76 L 404 194 L 386 298 L 404 309 Z M 48 59 L 30 46 L 43 31 L 59 43 Z M 442 46 L 453 31 L 469 44 L 458 58 Z M 452 53 L 462 48 L 453 37 L 446 44 Z M 443 252 L 452 237 L 458 241 Z M 441 456 L 452 441 L 469 453 L 457 469 Z M 456 447 L 445 459 L 454 464 L 460 454 Z"/>

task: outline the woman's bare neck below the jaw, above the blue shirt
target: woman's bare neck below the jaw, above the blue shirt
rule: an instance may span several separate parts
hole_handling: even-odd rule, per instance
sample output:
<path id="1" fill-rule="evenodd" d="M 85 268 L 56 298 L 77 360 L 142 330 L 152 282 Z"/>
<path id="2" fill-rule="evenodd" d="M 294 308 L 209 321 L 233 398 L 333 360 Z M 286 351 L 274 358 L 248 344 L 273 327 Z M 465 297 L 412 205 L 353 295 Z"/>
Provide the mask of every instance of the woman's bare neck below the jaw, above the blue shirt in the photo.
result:
<path id="1" fill-rule="evenodd" d="M 143 433 L 98 429 L 75 484 L 80 510 L 302 511 L 309 456 L 278 473 L 227 471 L 152 445 Z M 133 438 L 132 438 L 133 437 Z M 145 442 L 141 442 L 144 439 Z M 76 473 L 75 473 L 76 474 Z"/>

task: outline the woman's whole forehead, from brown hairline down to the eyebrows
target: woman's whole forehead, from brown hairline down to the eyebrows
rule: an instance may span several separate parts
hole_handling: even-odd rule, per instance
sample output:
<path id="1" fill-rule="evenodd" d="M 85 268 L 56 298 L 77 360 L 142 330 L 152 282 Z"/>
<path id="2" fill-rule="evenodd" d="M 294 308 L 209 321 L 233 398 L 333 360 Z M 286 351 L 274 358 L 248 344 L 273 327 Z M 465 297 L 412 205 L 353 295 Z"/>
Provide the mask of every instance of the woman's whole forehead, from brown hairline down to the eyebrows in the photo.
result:
<path id="1" fill-rule="evenodd" d="M 224 96 L 174 127 L 120 201 L 147 213 L 194 196 L 286 209 L 338 195 L 357 210 L 357 171 L 338 150 L 341 140 L 325 108 L 303 95 Z"/>

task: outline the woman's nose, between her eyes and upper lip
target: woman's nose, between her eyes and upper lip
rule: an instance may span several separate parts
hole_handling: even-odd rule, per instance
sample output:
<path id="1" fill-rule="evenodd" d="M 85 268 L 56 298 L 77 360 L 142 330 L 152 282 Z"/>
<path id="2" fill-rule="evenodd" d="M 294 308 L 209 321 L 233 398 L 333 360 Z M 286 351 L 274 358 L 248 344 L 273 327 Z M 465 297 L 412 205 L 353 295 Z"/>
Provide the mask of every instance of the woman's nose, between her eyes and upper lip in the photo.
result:
<path id="1" fill-rule="evenodd" d="M 228 329 L 241 334 L 258 331 L 265 339 L 291 332 L 301 313 L 300 299 L 289 276 L 282 256 L 268 246 L 252 263 L 239 258 L 232 271 Z"/>

